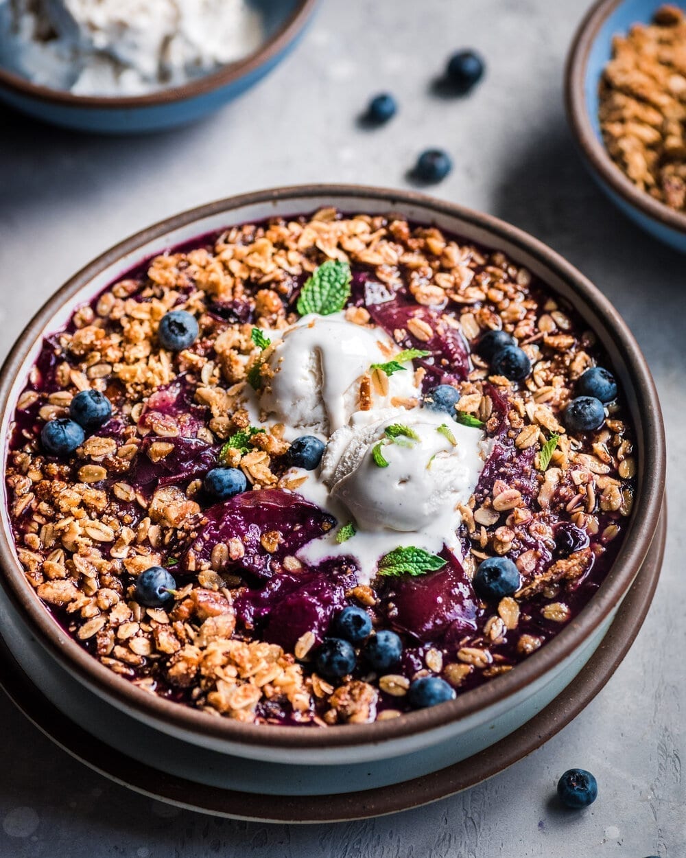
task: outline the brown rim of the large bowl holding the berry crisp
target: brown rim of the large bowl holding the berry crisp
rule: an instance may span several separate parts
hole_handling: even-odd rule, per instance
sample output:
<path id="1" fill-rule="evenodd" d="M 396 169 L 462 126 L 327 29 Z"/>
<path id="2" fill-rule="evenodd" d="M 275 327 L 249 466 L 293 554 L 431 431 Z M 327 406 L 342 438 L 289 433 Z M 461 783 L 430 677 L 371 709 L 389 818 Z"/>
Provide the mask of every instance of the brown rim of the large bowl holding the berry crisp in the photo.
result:
<path id="1" fill-rule="evenodd" d="M 227 222 L 230 222 L 231 213 L 235 209 L 288 200 L 293 200 L 296 208 L 299 206 L 301 210 L 305 210 L 308 200 L 316 198 L 321 200 L 322 197 L 333 205 L 338 205 L 343 199 L 348 202 L 351 199 L 360 199 L 363 201 L 360 203 L 361 210 L 370 214 L 374 214 L 377 206 L 388 210 L 389 207 L 400 204 L 406 208 L 413 206 L 424 208 L 427 222 L 435 215 L 445 215 L 466 221 L 473 227 L 489 233 L 492 246 L 496 247 L 499 240 L 513 245 L 516 251 L 521 251 L 546 269 L 550 269 L 571 287 L 580 299 L 580 305 L 598 320 L 596 326 L 605 327 L 605 331 L 611 335 L 616 347 L 621 350 L 624 364 L 632 379 L 638 411 L 643 415 L 640 425 L 636 426 L 641 444 L 639 457 L 641 491 L 635 499 L 629 532 L 598 592 L 593 595 L 581 613 L 558 632 L 550 643 L 529 656 L 525 662 L 517 665 L 515 670 L 464 692 L 441 706 L 410 712 L 400 718 L 387 721 L 335 725 L 322 730 L 304 726 L 284 728 L 278 725 L 245 724 L 232 719 L 210 717 L 201 710 L 190 709 L 156 697 L 132 685 L 129 680 L 113 674 L 109 668 L 83 650 L 39 600 L 27 582 L 21 565 L 15 560 L 15 541 L 3 523 L 0 527 L 0 586 L 19 608 L 21 616 L 30 622 L 39 643 L 58 662 L 67 666 L 72 674 L 76 674 L 81 681 L 97 689 L 105 698 L 117 700 L 118 704 L 123 704 L 129 710 L 135 710 L 143 718 L 152 717 L 159 723 L 165 723 L 172 730 L 182 730 L 187 734 L 202 734 L 215 740 L 244 746 L 268 745 L 311 750 L 376 744 L 380 741 L 402 739 L 408 735 L 441 728 L 450 722 L 472 716 L 491 705 L 502 703 L 512 694 L 539 680 L 557 663 L 571 656 L 617 607 L 634 581 L 653 541 L 653 527 L 641 526 L 641 523 L 655 523 L 659 520 L 665 493 L 665 430 L 657 390 L 638 343 L 610 301 L 556 251 L 552 251 L 528 233 L 492 215 L 474 212 L 417 191 L 390 190 L 356 184 L 304 184 L 259 190 L 191 208 L 135 233 L 88 263 L 63 287 L 60 287 L 33 316 L 18 336 L 0 369 L 0 408 L 4 410 L 8 407 L 12 384 L 22 363 L 26 360 L 27 353 L 39 336 L 50 333 L 46 327 L 57 311 L 95 275 L 117 262 L 118 259 L 134 253 L 142 245 L 159 239 L 173 230 L 189 226 L 208 216 L 226 213 Z M 134 260 L 130 260 L 130 263 L 134 264 Z M 15 403 L 11 404 L 14 406 Z"/>

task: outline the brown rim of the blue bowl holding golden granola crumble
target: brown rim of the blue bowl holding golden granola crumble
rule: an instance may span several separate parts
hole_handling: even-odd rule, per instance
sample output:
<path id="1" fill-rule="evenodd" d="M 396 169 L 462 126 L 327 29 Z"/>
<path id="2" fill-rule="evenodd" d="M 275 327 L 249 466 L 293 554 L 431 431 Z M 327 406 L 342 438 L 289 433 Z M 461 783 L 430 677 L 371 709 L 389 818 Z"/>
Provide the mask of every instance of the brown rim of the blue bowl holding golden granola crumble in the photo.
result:
<path id="1" fill-rule="evenodd" d="M 652 196 L 639 190 L 615 164 L 593 130 L 593 124 L 586 109 L 584 91 L 588 56 L 600 28 L 622 3 L 624 0 L 598 0 L 589 9 L 576 30 L 564 71 L 564 102 L 567 118 L 581 152 L 593 166 L 593 170 L 610 185 L 611 190 L 624 202 L 638 208 L 643 215 L 653 221 L 659 221 L 665 227 L 676 230 L 677 233 L 686 233 L 686 214 L 669 208 L 664 202 L 653 200 Z M 657 5 L 656 3 L 656 8 Z"/>

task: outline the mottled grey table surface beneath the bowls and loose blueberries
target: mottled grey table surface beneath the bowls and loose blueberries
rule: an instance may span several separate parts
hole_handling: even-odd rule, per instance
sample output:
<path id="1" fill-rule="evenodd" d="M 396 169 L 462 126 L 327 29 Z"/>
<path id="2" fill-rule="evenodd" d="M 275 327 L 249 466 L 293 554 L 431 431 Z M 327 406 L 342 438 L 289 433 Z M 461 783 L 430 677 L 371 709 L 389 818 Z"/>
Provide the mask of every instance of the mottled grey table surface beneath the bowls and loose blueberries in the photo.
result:
<path id="1" fill-rule="evenodd" d="M 633 329 L 665 411 L 671 518 L 658 594 L 617 674 L 575 722 L 490 782 L 424 809 L 346 825 L 215 819 L 106 781 L 0 696 L 0 855 L 686 855 L 684 257 L 617 215 L 575 152 L 561 82 L 587 5 L 324 0 L 272 76 L 173 133 L 77 136 L 0 110 L 2 353 L 69 275 L 153 221 L 277 184 L 404 187 L 416 154 L 441 146 L 454 171 L 436 196 L 543 239 L 609 295 Z M 444 57 L 465 45 L 487 59 L 484 84 L 467 100 L 431 97 Z M 398 117 L 373 133 L 358 130 L 360 107 L 383 89 L 400 100 Z M 563 814 L 549 799 L 573 765 L 596 773 L 600 797 L 586 813 Z"/>

